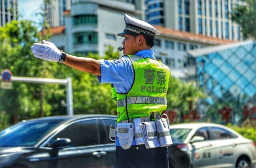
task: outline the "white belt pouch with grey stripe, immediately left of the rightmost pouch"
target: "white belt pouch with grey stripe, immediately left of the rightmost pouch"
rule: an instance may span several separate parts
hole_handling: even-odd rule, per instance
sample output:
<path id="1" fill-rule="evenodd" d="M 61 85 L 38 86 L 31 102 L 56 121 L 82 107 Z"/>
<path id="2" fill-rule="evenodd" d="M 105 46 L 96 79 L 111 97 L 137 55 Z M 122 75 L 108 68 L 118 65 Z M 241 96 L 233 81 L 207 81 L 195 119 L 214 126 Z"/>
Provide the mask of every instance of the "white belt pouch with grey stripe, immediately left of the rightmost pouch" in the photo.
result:
<path id="1" fill-rule="evenodd" d="M 160 146 L 155 121 L 142 122 L 142 133 L 147 149 Z"/>

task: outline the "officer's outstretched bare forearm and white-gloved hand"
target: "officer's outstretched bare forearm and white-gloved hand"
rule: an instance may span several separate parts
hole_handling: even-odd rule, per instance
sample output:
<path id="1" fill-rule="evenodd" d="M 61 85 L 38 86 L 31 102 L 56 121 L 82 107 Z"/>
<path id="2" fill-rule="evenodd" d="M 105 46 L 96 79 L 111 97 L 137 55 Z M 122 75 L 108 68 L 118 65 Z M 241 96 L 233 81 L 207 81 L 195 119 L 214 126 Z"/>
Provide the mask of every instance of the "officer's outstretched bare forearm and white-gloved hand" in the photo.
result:
<path id="1" fill-rule="evenodd" d="M 32 53 L 34 53 L 34 57 L 45 59 L 47 61 L 60 61 L 61 51 L 54 45 L 54 43 L 43 40 L 42 44 L 34 43 L 31 50 Z M 76 57 L 67 54 L 63 63 L 74 69 L 101 76 L 100 62 L 96 59 Z"/>

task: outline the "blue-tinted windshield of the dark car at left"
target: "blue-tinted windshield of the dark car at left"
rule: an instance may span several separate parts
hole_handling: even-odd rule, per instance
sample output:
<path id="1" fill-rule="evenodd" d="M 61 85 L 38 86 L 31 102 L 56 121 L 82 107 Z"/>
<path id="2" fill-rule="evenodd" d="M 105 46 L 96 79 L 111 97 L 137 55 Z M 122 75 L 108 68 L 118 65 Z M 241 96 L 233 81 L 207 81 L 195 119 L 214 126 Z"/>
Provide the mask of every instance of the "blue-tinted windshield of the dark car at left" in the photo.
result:
<path id="1" fill-rule="evenodd" d="M 56 121 L 26 121 L 0 132 L 0 146 L 33 146 L 58 125 Z"/>

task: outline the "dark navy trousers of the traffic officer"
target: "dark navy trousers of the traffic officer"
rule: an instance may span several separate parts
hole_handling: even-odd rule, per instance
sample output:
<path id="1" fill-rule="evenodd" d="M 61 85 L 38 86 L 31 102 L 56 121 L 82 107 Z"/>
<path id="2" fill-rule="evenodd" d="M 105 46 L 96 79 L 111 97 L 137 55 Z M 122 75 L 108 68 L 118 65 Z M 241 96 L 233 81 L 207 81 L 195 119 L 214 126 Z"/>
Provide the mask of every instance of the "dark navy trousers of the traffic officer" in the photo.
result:
<path id="1" fill-rule="evenodd" d="M 124 150 L 116 146 L 114 168 L 169 168 L 168 148 L 147 149 L 145 145 L 132 145 Z"/>

